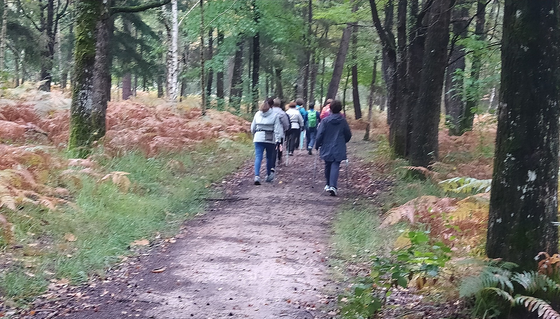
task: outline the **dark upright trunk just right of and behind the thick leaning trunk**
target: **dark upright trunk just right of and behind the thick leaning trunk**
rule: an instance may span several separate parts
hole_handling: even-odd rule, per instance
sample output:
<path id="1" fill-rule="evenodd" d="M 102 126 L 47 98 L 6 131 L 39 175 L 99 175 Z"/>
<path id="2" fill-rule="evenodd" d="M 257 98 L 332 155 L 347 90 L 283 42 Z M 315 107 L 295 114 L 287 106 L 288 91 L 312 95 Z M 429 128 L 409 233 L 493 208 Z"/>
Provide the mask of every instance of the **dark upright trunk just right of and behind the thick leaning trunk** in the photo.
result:
<path id="1" fill-rule="evenodd" d="M 452 13 L 453 34 L 455 40 L 465 39 L 468 36 L 469 8 L 463 4 L 455 6 Z M 445 79 L 445 117 L 449 126 L 449 135 L 463 134 L 461 121 L 466 114 L 466 105 L 463 102 L 463 72 L 465 71 L 464 46 L 455 45 L 452 48 L 449 60 L 451 64 L 447 67 Z M 460 72 L 456 76 L 456 72 Z M 455 78 L 455 79 L 454 79 Z"/>

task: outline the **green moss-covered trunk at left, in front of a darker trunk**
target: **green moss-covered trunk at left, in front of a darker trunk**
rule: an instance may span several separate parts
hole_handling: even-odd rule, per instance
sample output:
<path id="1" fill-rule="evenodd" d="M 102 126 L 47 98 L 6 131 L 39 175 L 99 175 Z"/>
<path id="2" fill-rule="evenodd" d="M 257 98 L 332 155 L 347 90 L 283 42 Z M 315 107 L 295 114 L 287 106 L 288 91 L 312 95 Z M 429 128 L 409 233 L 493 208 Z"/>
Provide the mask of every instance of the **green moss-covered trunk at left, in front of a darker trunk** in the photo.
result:
<path id="1" fill-rule="evenodd" d="M 76 55 L 68 149 L 73 156 L 85 158 L 90 153 L 95 31 L 101 16 L 101 6 L 98 0 L 81 0 L 76 2 L 76 12 Z"/>

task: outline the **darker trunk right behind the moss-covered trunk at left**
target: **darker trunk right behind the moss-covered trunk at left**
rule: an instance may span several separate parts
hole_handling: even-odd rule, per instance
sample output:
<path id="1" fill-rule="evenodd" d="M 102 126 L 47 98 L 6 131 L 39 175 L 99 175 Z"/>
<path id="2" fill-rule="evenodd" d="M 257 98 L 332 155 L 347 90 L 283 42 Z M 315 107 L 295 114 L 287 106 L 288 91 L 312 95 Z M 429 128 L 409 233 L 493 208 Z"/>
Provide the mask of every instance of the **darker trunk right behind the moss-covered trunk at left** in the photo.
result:
<path id="1" fill-rule="evenodd" d="M 92 140 L 100 139 L 105 135 L 105 114 L 107 112 L 107 102 L 111 98 L 109 45 L 113 30 L 113 19 L 109 14 L 110 5 L 110 2 L 105 5 L 100 4 L 101 16 L 98 18 L 95 28 L 94 93 L 92 95 L 93 108 L 91 111 Z"/>

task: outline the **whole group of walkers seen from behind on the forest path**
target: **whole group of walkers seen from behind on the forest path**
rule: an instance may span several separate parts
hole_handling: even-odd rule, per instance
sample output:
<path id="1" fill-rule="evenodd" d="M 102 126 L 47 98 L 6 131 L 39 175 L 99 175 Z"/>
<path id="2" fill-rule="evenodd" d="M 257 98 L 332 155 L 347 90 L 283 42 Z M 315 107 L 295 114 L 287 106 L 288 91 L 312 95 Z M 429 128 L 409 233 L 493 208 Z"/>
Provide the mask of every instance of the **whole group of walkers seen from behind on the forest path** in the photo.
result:
<path id="1" fill-rule="evenodd" d="M 346 161 L 346 143 L 352 138 L 348 122 L 340 113 L 342 103 L 329 98 L 320 112 L 315 110 L 314 103 L 310 103 L 309 110 L 306 110 L 302 98 L 286 104 L 286 110 L 281 105 L 279 98 L 267 98 L 251 123 L 255 144 L 255 185 L 260 185 L 264 151 L 267 159 L 265 181 L 272 182 L 276 163 L 282 163 L 283 149 L 287 149 L 289 159 L 297 146 L 303 148 L 306 139 L 307 153 L 311 155 L 313 148 L 320 149 L 319 155 L 325 162 L 324 190 L 337 196 L 340 162 Z"/>

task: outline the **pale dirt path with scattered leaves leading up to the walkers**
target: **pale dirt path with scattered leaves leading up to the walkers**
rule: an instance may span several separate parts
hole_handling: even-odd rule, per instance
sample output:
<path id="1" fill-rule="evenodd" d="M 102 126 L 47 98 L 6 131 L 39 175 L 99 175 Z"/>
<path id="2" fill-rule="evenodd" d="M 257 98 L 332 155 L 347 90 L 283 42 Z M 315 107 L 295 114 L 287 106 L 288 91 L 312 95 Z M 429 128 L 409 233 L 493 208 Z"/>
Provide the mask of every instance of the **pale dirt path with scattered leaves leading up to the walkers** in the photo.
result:
<path id="1" fill-rule="evenodd" d="M 67 316 L 332 317 L 334 297 L 326 297 L 334 288 L 328 280 L 329 224 L 341 199 L 323 191 L 320 171 L 312 183 L 314 159 L 296 152 L 274 182 L 260 186 L 246 165 L 228 193 L 247 199 L 211 204 L 186 224 L 183 238 L 137 262 L 139 269 L 125 271 L 128 276 L 86 291 L 90 298 L 74 303 Z"/>

